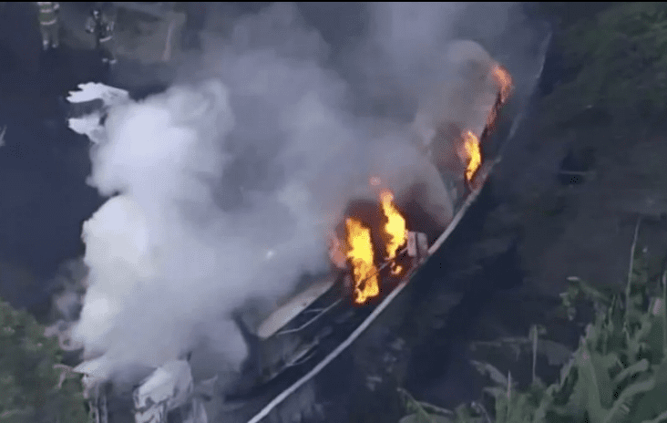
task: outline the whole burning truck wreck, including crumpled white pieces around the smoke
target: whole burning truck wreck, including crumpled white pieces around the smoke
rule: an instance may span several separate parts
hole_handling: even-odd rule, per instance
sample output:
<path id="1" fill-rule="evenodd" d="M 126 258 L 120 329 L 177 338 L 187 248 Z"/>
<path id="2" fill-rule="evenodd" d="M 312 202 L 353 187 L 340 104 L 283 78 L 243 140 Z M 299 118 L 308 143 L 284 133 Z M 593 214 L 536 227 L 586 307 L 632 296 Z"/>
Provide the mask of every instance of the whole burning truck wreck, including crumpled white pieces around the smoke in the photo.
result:
<path id="1" fill-rule="evenodd" d="M 234 316 L 249 356 L 227 398 L 242 400 L 260 395 L 277 379 L 295 380 L 251 421 L 265 417 L 270 408 L 349 346 L 446 241 L 475 201 L 496 162 L 485 157 L 485 143 L 513 88 L 508 71 L 499 64 L 485 69 L 482 79 L 494 88 L 479 114 L 486 119 L 478 122 L 477 128 L 460 128 L 460 122 L 449 119 L 426 137 L 425 154 L 445 182 L 451 203 L 445 219 L 416 205 L 414 193 L 395 195 L 379 178 L 371 178 L 376 201 L 352 201 L 343 222 L 331 233 L 331 272 L 304 277 L 299 284 L 301 291 L 271 313 L 261 315 L 246 307 Z M 82 84 L 67 98 L 71 104 L 69 127 L 92 142 L 104 142 L 106 110 L 128 99 L 128 92 L 122 89 Z M 61 340 L 67 338 L 67 331 L 60 335 Z M 67 341 L 61 346 L 77 348 Z M 84 375 L 97 422 L 125 421 L 109 411 L 113 401 L 131 409 L 138 423 L 208 421 L 203 402 L 213 396 L 215 380 L 195 384 L 187 357 L 154 369 L 139 387 L 132 387 L 131 394 L 126 392 L 124 399 L 118 392 L 109 394 L 108 382 L 90 376 L 88 366 L 89 362 L 81 363 L 74 372 Z"/>

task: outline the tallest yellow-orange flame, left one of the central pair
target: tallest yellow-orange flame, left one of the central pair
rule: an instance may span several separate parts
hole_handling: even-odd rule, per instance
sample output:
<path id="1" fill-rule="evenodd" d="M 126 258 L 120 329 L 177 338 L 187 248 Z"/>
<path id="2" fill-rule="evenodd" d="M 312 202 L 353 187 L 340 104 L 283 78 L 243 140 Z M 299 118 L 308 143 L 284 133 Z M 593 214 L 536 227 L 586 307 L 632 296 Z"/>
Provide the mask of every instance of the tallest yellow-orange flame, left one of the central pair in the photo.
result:
<path id="1" fill-rule="evenodd" d="M 362 222 L 352 218 L 348 218 L 345 225 L 349 248 L 347 258 L 352 263 L 354 273 L 354 302 L 364 304 L 368 298 L 380 294 L 377 269 L 375 269 L 373 258 L 371 230 L 364 227 Z"/>

